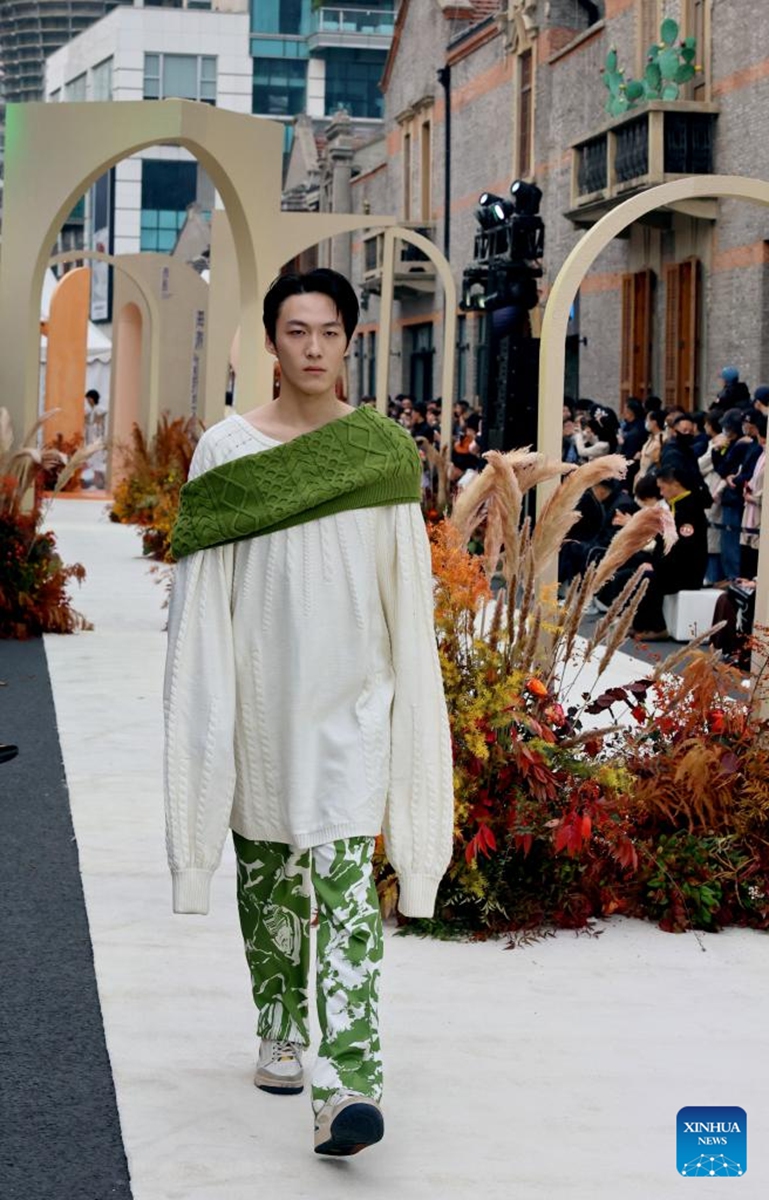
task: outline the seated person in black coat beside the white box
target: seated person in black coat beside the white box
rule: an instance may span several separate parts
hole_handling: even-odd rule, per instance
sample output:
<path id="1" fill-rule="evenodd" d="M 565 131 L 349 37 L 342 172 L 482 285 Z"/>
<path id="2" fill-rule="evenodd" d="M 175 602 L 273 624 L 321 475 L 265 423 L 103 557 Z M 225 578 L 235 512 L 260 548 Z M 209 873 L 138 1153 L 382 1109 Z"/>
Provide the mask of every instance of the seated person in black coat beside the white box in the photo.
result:
<path id="1" fill-rule="evenodd" d="M 649 584 L 633 618 L 633 638 L 659 642 L 669 637 L 662 601 L 675 592 L 702 587 L 708 565 L 708 520 L 699 496 L 690 492 L 675 467 L 657 475 L 657 487 L 675 521 L 678 541 L 667 554 L 657 545 L 649 564 Z"/>

